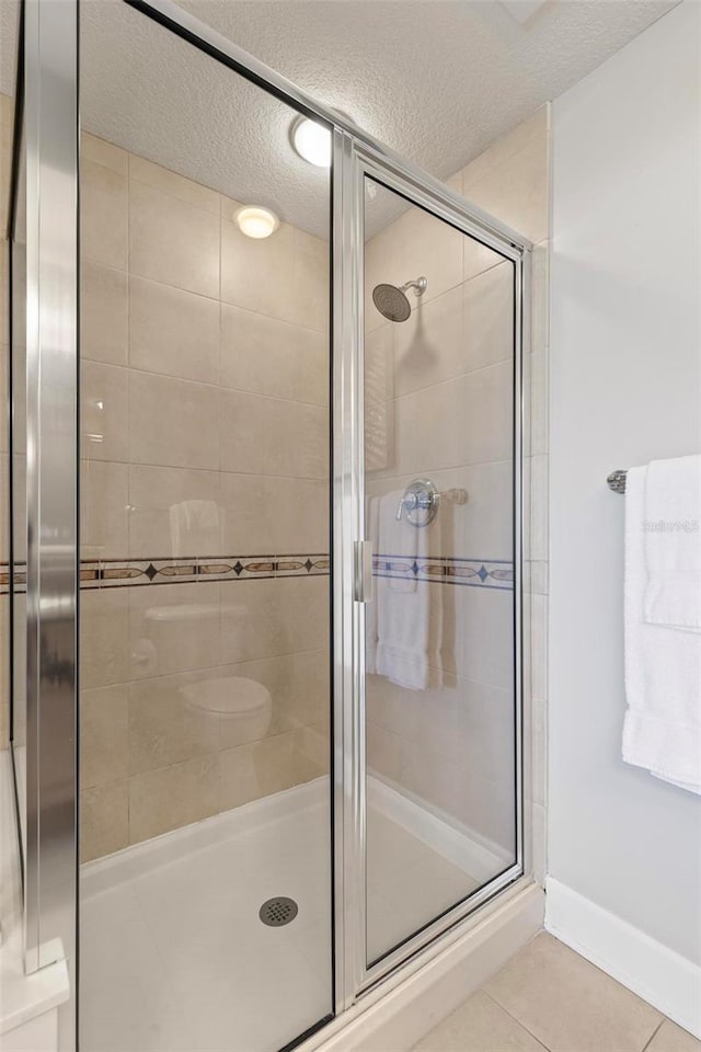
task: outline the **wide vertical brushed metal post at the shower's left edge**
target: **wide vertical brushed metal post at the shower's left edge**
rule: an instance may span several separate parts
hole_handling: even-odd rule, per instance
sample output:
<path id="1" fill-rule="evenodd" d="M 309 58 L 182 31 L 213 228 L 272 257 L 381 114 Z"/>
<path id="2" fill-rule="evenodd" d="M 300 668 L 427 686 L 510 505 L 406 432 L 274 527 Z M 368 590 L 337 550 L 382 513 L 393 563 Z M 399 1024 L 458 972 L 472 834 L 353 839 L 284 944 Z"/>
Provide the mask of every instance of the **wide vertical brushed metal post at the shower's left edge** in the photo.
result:
<path id="1" fill-rule="evenodd" d="M 24 967 L 31 974 L 66 960 L 72 986 L 78 908 L 78 0 L 23 0 L 20 25 L 11 202 L 14 211 L 23 141 L 26 774 L 24 787 L 16 788 L 25 791 Z M 20 418 L 13 405 L 13 427 Z M 12 565 L 12 590 L 19 578 Z M 61 1008 L 60 1029 L 71 1042 L 70 1010 Z"/>

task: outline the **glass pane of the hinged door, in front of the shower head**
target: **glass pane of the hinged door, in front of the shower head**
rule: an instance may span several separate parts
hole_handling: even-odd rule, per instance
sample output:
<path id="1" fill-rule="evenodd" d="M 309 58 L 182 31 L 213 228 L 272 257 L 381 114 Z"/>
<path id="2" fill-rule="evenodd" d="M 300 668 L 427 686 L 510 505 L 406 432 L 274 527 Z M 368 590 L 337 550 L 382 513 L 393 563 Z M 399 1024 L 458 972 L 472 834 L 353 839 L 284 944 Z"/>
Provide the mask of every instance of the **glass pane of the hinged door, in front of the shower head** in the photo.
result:
<path id="1" fill-rule="evenodd" d="M 365 191 L 371 963 L 516 858 L 514 266 Z"/>

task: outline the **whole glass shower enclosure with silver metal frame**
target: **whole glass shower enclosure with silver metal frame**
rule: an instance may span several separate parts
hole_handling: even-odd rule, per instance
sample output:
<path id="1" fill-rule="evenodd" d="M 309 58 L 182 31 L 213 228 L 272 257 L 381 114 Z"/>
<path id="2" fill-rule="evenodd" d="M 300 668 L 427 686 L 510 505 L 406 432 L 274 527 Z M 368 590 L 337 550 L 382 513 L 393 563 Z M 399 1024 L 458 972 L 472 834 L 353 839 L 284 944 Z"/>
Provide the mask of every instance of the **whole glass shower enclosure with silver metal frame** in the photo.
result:
<path id="1" fill-rule="evenodd" d="M 65 1049 L 291 1048 L 528 873 L 530 244 L 170 0 L 20 52 L 26 967 Z"/>

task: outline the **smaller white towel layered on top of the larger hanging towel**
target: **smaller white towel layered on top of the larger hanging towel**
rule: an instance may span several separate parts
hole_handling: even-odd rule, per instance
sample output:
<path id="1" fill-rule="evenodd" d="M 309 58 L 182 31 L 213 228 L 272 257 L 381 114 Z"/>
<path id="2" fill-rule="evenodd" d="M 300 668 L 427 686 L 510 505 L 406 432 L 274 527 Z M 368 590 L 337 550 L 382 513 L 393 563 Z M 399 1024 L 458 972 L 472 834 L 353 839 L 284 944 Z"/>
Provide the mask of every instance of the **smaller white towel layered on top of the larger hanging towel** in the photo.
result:
<path id="1" fill-rule="evenodd" d="M 701 456 L 647 468 L 645 563 L 645 620 L 701 631 Z"/>

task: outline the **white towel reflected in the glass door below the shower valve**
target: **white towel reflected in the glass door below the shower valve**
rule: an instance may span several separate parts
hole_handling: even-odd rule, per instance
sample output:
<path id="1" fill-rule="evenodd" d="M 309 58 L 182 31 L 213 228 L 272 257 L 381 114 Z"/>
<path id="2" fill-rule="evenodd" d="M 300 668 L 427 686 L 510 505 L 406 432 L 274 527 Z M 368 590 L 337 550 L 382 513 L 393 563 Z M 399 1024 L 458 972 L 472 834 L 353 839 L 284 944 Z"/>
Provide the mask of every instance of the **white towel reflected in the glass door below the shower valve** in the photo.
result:
<path id="1" fill-rule="evenodd" d="M 397 521 L 402 492 L 379 500 L 380 562 L 375 578 L 375 671 L 410 690 L 440 686 L 440 584 L 421 580 L 414 567 L 426 562 L 428 530 Z"/>

